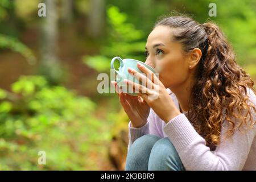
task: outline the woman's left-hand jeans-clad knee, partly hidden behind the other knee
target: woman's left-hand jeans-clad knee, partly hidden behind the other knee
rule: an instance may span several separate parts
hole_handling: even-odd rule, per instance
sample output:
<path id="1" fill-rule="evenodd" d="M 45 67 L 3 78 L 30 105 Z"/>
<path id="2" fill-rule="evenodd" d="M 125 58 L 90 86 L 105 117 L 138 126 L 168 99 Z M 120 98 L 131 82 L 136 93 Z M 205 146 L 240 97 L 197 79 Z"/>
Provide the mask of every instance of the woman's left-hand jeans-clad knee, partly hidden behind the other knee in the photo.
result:
<path id="1" fill-rule="evenodd" d="M 126 170 L 147 170 L 152 147 L 159 139 L 156 135 L 143 135 L 135 140 L 127 153 Z"/>

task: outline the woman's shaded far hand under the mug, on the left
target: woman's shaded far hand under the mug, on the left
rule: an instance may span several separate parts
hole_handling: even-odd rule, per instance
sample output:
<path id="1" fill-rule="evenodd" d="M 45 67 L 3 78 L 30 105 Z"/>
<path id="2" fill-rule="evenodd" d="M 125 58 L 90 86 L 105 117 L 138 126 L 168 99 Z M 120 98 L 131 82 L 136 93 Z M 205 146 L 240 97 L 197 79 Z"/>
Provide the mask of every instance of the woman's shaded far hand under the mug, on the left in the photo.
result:
<path id="1" fill-rule="evenodd" d="M 148 106 L 147 102 L 139 96 L 131 96 L 122 93 L 121 90 L 119 90 L 116 81 L 112 81 L 112 85 L 119 96 L 119 101 L 121 102 L 123 109 L 131 121 L 131 126 L 142 127 L 145 125 L 150 112 L 150 106 Z"/>

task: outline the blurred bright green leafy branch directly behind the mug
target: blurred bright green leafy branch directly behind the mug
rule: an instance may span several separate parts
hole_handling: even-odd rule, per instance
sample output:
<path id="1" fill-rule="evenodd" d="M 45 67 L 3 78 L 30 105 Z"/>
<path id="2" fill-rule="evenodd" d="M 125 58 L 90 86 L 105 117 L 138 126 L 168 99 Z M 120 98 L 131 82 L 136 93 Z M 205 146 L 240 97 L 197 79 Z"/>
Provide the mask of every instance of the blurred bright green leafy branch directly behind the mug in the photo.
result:
<path id="1" fill-rule="evenodd" d="M 110 6 L 107 15 L 110 26 L 107 44 L 101 48 L 100 55 L 83 57 L 84 63 L 98 72 L 109 71 L 110 60 L 115 56 L 143 60 L 143 32 L 127 23 L 127 15 L 120 13 L 118 7 Z"/>

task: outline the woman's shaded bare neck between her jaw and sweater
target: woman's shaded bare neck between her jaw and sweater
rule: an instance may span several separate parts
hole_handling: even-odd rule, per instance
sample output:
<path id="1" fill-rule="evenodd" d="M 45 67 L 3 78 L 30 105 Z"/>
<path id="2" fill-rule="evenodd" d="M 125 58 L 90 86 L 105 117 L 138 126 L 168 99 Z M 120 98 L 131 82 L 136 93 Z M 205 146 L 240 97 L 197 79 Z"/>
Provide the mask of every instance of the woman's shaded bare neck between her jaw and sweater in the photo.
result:
<path id="1" fill-rule="evenodd" d="M 189 110 L 189 98 L 191 96 L 192 81 L 187 80 L 183 84 L 171 86 L 170 90 L 175 94 L 182 113 Z"/>

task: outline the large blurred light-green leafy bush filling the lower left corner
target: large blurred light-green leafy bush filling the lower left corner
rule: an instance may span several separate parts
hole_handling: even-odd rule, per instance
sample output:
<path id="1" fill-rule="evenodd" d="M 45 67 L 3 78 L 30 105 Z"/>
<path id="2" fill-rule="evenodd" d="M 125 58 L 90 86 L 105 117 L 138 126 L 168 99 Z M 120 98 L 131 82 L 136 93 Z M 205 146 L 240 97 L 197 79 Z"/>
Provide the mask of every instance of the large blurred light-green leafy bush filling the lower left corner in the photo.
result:
<path id="1" fill-rule="evenodd" d="M 89 98 L 41 76 L 20 77 L 0 98 L 0 169 L 99 169 L 91 155 L 106 155 L 110 126 Z M 38 164 L 42 150 L 46 165 Z"/>

